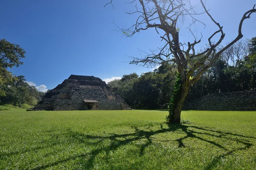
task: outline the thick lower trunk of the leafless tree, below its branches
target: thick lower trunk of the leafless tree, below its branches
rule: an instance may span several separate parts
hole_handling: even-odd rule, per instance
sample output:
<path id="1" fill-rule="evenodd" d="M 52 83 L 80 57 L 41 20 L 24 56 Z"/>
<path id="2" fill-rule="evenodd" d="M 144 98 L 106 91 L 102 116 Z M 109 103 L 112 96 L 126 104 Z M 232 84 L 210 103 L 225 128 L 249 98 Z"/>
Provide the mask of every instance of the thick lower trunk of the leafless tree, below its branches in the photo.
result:
<path id="1" fill-rule="evenodd" d="M 189 93 L 189 83 L 188 82 L 181 82 L 179 92 L 176 94 L 173 94 L 175 96 L 172 96 L 174 101 L 173 109 L 172 111 L 169 111 L 169 123 L 178 123 L 180 124 L 180 113 L 181 109 L 183 107 L 183 104 L 185 102 L 186 96 Z"/>

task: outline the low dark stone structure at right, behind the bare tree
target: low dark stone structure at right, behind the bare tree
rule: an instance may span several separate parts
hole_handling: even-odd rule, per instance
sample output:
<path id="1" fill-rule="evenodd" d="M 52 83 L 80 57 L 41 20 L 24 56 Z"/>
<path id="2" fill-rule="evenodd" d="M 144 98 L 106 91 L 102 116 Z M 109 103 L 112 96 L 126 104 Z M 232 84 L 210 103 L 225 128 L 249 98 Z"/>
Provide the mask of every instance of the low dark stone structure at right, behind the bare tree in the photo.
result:
<path id="1" fill-rule="evenodd" d="M 183 110 L 256 111 L 256 90 L 210 94 L 185 103 Z"/>

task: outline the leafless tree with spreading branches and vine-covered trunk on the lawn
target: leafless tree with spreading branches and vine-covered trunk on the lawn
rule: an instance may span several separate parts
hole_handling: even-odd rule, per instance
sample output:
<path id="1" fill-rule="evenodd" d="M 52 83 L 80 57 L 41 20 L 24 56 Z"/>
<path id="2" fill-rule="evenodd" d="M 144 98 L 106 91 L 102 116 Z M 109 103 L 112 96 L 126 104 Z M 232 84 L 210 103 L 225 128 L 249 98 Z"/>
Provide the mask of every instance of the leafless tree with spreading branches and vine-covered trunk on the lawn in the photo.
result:
<path id="1" fill-rule="evenodd" d="M 202 13 L 197 13 L 196 6 L 192 5 L 190 0 L 130 0 L 127 3 L 133 4 L 135 11 L 128 12 L 128 14 L 139 14 L 139 17 L 131 27 L 119 28 L 119 31 L 126 37 L 131 37 L 137 32 L 150 28 L 155 29 L 157 34 L 161 34 L 160 38 L 165 42 L 161 48 L 158 48 L 157 51 L 151 51 L 151 54 L 147 54 L 143 58 L 134 57 L 130 64 L 151 65 L 166 61 L 175 62 L 180 80 L 177 84 L 179 86 L 178 92 L 173 96 L 175 99 L 174 107 L 170 109 L 167 117 L 167 121 L 170 123 L 180 123 L 180 112 L 190 86 L 200 79 L 201 75 L 215 63 L 225 50 L 243 37 L 241 28 L 244 20 L 256 12 L 255 5 L 251 10 L 245 12 L 238 26 L 237 37 L 220 48 L 221 41 L 225 37 L 223 27 L 209 14 L 203 0 L 200 2 L 204 9 Z M 112 4 L 112 0 L 110 3 Z M 201 39 L 196 38 L 191 26 L 196 22 L 204 25 L 203 22 L 196 19 L 197 15 L 203 13 L 209 16 L 209 20 L 217 26 L 217 30 L 208 38 L 207 48 L 196 52 L 195 45 L 200 43 Z M 184 17 L 192 19 L 192 23 L 187 29 L 195 37 L 194 42 L 180 42 L 177 23 L 179 20 L 184 20 Z M 219 36 L 218 40 L 215 43 L 212 42 L 213 37 L 217 36 Z"/>

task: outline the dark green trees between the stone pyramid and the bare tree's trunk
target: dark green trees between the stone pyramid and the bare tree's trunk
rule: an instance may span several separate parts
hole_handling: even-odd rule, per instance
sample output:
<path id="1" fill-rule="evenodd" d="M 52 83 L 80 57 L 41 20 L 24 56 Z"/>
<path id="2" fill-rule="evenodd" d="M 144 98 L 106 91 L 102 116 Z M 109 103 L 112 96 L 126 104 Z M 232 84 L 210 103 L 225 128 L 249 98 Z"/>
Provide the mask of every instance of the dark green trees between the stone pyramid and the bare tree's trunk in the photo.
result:
<path id="1" fill-rule="evenodd" d="M 120 80 L 108 83 L 115 94 L 120 95 L 132 108 L 167 108 L 172 95 L 175 76 L 169 72 L 170 65 L 161 65 L 154 72 L 124 75 Z"/>

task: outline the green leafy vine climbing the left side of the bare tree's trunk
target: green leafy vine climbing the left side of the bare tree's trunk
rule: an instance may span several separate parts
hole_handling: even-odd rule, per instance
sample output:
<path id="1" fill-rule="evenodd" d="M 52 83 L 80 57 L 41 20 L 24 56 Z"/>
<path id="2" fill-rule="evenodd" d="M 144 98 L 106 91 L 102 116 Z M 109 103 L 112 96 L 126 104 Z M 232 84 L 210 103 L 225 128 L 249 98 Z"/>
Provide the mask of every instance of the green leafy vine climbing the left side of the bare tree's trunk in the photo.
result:
<path id="1" fill-rule="evenodd" d="M 172 97 L 169 102 L 169 115 L 166 116 L 166 120 L 168 123 L 172 122 L 172 115 L 174 114 L 174 109 L 177 106 L 177 102 L 179 101 L 180 97 L 180 86 L 181 86 L 181 78 L 180 74 L 177 73 L 177 80 L 175 82 L 174 90 L 172 92 Z"/>

